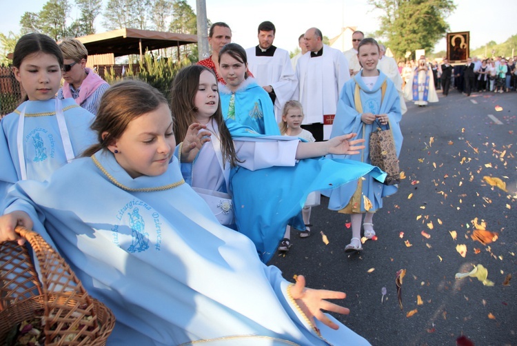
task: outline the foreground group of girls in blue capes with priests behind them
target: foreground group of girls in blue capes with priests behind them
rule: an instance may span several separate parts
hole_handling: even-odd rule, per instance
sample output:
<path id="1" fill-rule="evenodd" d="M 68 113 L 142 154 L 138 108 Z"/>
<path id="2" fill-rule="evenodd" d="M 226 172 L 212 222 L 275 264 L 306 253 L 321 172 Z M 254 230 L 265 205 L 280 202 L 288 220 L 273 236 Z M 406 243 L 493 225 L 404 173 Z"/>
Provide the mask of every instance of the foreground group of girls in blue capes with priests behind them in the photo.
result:
<path id="1" fill-rule="evenodd" d="M 309 28 L 294 60 L 275 34 L 265 21 L 245 49 L 214 23 L 212 55 L 178 72 L 170 103 L 103 82 L 77 40 L 19 39 L 27 99 L 0 122 L 0 241 L 23 245 L 22 225 L 56 247 L 114 312 L 109 344 L 369 345 L 322 311 L 347 314 L 327 301 L 343 292 L 267 262 L 314 232 L 320 193 L 352 219 L 345 252 L 376 236 L 398 187 L 370 165 L 368 139 L 390 130 L 400 153 L 401 74 L 360 31 L 343 54 Z"/>

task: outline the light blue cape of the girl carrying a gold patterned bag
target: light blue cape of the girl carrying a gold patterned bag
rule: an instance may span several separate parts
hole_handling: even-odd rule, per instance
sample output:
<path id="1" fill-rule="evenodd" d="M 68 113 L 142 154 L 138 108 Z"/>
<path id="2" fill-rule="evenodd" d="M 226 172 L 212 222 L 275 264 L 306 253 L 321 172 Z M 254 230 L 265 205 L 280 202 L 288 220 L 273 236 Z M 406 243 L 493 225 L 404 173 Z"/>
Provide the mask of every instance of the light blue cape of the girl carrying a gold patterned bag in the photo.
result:
<path id="1" fill-rule="evenodd" d="M 383 72 L 379 71 L 379 77 L 372 90 L 365 85 L 363 81 L 363 72 L 356 74 L 356 77 L 350 79 L 343 86 L 341 96 L 338 101 L 338 109 L 336 117 L 334 118 L 334 124 L 332 125 L 332 132 L 330 138 L 340 136 L 341 134 L 347 134 L 355 132 L 357 134 L 356 139 L 365 139 L 365 149 L 356 155 L 330 155 L 333 158 L 345 158 L 353 161 L 363 161 L 370 163 L 369 159 L 369 136 L 372 133 L 375 123 L 373 125 L 367 125 L 361 121 L 361 114 L 356 110 L 354 101 L 354 92 L 356 90 L 356 83 L 358 83 L 361 94 L 361 103 L 363 105 L 363 112 L 371 112 L 372 114 L 387 114 L 389 118 L 389 125 L 391 126 L 397 157 L 401 153 L 403 136 L 399 123 L 402 119 L 401 114 L 401 102 L 399 100 L 398 92 L 392 83 Z M 381 86 L 383 82 L 387 82 L 387 88 L 385 91 L 384 99 L 381 101 Z M 383 126 L 385 129 L 385 127 Z M 383 197 L 394 194 L 398 190 L 396 185 L 383 185 L 381 182 L 376 181 L 372 176 L 365 176 L 363 181 L 363 195 L 372 201 L 373 208 L 369 210 L 373 212 L 383 207 Z M 352 195 L 356 191 L 357 182 L 343 185 L 342 187 L 332 190 L 330 192 L 329 209 L 330 210 L 341 210 L 345 207 Z M 365 212 L 364 200 L 361 199 L 361 212 Z"/>

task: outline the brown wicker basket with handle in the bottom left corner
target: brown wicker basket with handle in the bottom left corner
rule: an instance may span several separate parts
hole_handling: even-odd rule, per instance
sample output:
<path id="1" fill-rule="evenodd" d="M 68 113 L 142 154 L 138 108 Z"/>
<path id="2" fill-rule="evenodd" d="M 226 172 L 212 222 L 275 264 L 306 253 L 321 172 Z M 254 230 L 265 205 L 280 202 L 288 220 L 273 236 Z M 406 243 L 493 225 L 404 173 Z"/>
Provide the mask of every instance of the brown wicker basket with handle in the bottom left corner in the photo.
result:
<path id="1" fill-rule="evenodd" d="M 0 345 L 23 320 L 43 310 L 45 345 L 105 345 L 113 313 L 88 295 L 70 266 L 36 232 L 17 227 L 30 243 L 41 282 L 26 246 L 0 244 Z M 41 314 L 41 313 L 40 313 Z"/>

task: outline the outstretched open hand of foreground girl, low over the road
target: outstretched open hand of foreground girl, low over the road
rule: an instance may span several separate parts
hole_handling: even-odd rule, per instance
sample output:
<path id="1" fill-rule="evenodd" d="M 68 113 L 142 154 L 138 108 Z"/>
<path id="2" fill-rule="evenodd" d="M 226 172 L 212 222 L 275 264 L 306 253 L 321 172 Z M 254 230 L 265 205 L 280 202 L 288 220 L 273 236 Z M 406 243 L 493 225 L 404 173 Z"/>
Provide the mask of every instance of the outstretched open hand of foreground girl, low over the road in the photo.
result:
<path id="1" fill-rule="evenodd" d="M 347 296 L 345 293 L 329 291 L 327 289 L 307 288 L 305 287 L 305 278 L 301 275 L 298 275 L 296 278 L 296 284 L 291 286 L 290 293 L 292 298 L 296 301 L 296 304 L 298 304 L 305 316 L 307 316 L 313 324 L 314 318 L 317 318 L 321 323 L 324 323 L 332 329 L 339 328 L 327 315 L 323 314 L 321 309 L 345 315 L 350 313 L 350 310 L 346 307 L 326 301 L 326 299 L 344 299 Z"/>

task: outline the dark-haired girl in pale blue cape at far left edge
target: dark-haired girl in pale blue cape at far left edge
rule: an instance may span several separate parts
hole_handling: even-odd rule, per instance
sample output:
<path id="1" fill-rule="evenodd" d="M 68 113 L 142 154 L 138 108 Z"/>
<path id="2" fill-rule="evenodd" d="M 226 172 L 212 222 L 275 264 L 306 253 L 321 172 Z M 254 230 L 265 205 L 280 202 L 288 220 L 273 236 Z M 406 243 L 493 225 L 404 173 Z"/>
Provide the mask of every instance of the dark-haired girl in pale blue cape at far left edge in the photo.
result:
<path id="1" fill-rule="evenodd" d="M 62 69 L 61 49 L 44 34 L 23 35 L 14 47 L 12 70 L 27 98 L 0 122 L 0 201 L 17 181 L 45 180 L 95 141 L 93 114 L 55 98 Z"/>

